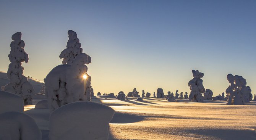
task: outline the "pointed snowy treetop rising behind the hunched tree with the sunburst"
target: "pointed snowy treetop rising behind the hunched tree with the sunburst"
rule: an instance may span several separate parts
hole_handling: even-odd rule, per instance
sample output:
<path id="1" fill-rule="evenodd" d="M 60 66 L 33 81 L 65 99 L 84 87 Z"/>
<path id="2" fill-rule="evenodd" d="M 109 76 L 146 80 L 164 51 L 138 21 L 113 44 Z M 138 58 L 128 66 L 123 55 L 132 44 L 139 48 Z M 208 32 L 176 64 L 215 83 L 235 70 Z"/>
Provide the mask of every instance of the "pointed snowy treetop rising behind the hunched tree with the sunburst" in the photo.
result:
<path id="1" fill-rule="evenodd" d="M 66 48 L 60 53 L 60 59 L 63 58 L 62 64 L 72 64 L 76 56 L 82 52 L 83 48 L 81 48 L 76 32 L 68 30 L 68 43 Z"/>

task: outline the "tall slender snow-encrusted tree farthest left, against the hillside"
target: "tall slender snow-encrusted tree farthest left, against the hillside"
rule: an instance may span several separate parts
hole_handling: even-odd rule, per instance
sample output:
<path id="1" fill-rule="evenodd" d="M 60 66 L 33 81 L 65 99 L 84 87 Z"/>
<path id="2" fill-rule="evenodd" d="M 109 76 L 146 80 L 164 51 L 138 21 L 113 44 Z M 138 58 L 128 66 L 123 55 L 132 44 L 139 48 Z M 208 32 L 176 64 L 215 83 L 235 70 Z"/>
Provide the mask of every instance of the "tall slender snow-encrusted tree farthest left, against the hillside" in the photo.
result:
<path id="1" fill-rule="evenodd" d="M 10 44 L 11 51 L 8 55 L 10 64 L 7 77 L 10 83 L 5 85 L 4 91 L 14 93 L 23 97 L 24 105 L 32 105 L 32 95 L 34 88 L 28 82 L 28 78 L 23 75 L 24 68 L 21 63 L 28 63 L 28 54 L 24 51 L 25 43 L 21 40 L 21 32 L 16 32 L 11 36 L 13 40 Z"/>

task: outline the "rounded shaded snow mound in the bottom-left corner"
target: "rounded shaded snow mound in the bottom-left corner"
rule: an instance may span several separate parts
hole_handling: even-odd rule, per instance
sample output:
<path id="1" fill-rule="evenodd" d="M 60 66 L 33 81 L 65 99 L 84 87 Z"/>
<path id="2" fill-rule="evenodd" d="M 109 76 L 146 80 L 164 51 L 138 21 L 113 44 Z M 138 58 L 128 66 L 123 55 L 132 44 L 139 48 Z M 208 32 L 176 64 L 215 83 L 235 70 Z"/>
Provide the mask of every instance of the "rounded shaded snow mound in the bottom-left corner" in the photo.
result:
<path id="1" fill-rule="evenodd" d="M 42 133 L 35 120 L 20 112 L 0 114 L 1 140 L 41 140 Z"/>

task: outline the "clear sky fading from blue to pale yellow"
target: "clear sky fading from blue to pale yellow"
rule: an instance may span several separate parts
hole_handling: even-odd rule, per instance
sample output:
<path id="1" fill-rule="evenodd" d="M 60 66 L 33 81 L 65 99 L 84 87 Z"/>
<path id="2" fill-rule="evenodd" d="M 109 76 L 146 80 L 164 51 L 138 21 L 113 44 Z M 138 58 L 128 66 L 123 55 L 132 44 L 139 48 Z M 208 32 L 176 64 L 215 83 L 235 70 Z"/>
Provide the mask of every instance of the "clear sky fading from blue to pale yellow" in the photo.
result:
<path id="1" fill-rule="evenodd" d="M 69 29 L 92 58 L 95 93 L 189 93 L 192 69 L 214 95 L 225 92 L 229 73 L 256 93 L 255 0 L 1 0 L 0 71 L 11 35 L 22 32 L 24 75 L 43 80 L 62 64 Z"/>

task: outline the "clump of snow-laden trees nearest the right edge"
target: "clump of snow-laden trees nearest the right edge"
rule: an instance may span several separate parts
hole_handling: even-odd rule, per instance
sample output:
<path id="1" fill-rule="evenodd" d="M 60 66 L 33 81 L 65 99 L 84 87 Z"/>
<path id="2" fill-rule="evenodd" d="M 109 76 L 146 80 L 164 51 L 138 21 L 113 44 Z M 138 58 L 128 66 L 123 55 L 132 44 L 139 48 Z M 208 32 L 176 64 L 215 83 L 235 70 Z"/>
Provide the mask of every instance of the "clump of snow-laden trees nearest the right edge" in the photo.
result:
<path id="1" fill-rule="evenodd" d="M 227 80 L 230 83 L 226 89 L 227 105 L 245 105 L 252 100 L 251 88 L 246 86 L 246 80 L 242 76 L 228 74 Z"/>

